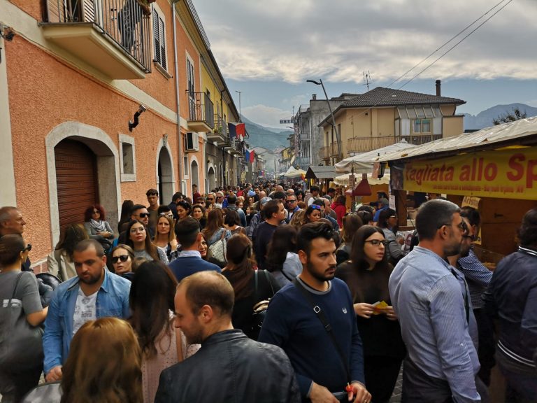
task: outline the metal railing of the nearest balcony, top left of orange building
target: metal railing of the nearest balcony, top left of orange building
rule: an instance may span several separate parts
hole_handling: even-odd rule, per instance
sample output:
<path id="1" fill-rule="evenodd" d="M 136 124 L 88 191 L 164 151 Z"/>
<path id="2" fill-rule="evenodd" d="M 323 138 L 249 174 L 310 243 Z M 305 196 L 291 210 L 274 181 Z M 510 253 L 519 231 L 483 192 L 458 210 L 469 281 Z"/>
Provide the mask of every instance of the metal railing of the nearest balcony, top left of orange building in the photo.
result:
<path id="1" fill-rule="evenodd" d="M 150 17 L 136 0 L 47 0 L 47 11 L 49 24 L 92 23 L 150 73 Z"/>

